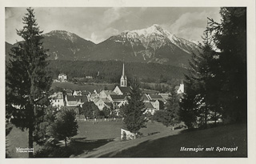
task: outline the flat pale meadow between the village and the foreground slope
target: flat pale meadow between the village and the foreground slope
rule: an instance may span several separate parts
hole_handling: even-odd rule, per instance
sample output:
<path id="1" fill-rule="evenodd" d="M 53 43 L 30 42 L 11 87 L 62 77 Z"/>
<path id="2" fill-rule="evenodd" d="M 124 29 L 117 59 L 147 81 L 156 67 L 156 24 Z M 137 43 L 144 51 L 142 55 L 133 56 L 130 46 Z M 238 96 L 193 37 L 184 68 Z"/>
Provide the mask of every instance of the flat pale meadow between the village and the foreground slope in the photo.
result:
<path id="1" fill-rule="evenodd" d="M 122 121 L 108 122 L 98 120 L 98 123 L 93 122 L 78 122 L 78 135 L 74 136 L 74 143 L 72 146 L 75 147 L 76 155 L 84 152 L 90 152 L 103 146 L 109 142 L 118 141 L 120 142 L 120 129 L 124 126 Z M 27 158 L 28 154 L 16 153 L 16 147 L 26 148 L 28 147 L 28 131 L 20 130 L 15 126 L 12 126 L 10 134 L 6 136 L 6 154 L 10 158 Z M 140 132 L 147 136 L 149 133 L 159 133 L 165 130 L 169 130 L 162 124 L 155 122 L 148 122 L 147 128 L 143 128 Z M 39 146 L 34 144 L 34 150 L 37 151 Z"/>

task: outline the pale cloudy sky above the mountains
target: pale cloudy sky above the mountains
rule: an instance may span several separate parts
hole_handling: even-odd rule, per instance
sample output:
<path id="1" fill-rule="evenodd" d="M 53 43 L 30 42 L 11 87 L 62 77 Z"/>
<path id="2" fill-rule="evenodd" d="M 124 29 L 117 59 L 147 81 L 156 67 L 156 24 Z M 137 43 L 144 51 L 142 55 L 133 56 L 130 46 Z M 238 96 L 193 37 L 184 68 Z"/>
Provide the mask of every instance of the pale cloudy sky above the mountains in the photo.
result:
<path id="1" fill-rule="evenodd" d="M 180 38 L 202 41 L 207 17 L 220 22 L 218 7 L 39 7 L 34 8 L 40 30 L 66 30 L 99 43 L 125 30 L 140 30 L 158 24 Z M 6 7 L 6 42 L 21 41 L 26 8 Z"/>

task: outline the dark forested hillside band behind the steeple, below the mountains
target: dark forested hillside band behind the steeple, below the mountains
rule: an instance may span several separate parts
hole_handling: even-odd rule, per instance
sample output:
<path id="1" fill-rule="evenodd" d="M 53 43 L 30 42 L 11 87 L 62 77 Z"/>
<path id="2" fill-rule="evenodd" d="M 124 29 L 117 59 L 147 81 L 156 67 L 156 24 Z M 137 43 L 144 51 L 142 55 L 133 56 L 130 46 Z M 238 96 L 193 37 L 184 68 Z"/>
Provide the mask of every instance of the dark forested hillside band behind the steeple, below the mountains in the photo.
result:
<path id="1" fill-rule="evenodd" d="M 68 78 L 83 78 L 93 76 L 99 81 L 119 83 L 122 75 L 122 62 L 117 61 L 50 61 L 50 70 L 53 78 L 58 74 L 67 74 Z M 126 62 L 125 70 L 128 79 L 138 77 L 143 82 L 158 82 L 160 77 L 166 78 L 166 82 L 180 81 L 184 78 L 186 69 L 161 65 L 157 63 Z"/>

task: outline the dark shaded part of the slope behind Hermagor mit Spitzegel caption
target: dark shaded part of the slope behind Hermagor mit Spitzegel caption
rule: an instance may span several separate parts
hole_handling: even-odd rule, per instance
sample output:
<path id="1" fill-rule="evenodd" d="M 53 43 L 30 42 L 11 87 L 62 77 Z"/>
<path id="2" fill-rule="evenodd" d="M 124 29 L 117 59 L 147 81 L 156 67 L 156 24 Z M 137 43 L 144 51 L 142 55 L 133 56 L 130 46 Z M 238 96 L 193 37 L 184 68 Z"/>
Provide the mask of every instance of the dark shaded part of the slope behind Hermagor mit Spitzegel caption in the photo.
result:
<path id="1" fill-rule="evenodd" d="M 246 134 L 246 125 L 221 126 L 142 142 L 113 156 L 108 155 L 111 157 L 247 157 Z M 214 146 L 214 151 L 181 152 L 181 146 L 204 148 Z M 219 153 L 215 151 L 217 146 L 238 146 L 238 151 Z"/>

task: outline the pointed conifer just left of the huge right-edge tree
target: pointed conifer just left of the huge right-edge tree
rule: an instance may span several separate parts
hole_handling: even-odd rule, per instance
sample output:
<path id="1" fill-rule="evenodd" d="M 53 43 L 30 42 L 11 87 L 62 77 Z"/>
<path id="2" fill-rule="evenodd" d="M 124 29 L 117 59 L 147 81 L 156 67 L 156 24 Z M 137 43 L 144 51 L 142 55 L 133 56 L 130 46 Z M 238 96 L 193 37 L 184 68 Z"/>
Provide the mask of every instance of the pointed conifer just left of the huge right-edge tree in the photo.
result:
<path id="1" fill-rule="evenodd" d="M 181 118 L 189 128 L 206 126 L 218 95 L 215 74 L 218 58 L 211 45 L 209 31 L 205 31 L 200 46 L 202 53 L 192 55 L 190 72 L 186 74 L 186 94 L 181 102 Z"/>

